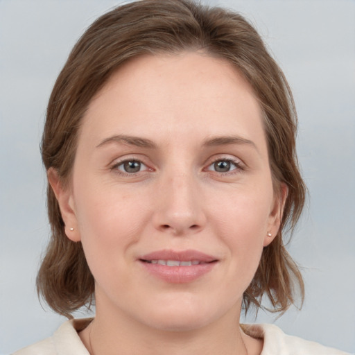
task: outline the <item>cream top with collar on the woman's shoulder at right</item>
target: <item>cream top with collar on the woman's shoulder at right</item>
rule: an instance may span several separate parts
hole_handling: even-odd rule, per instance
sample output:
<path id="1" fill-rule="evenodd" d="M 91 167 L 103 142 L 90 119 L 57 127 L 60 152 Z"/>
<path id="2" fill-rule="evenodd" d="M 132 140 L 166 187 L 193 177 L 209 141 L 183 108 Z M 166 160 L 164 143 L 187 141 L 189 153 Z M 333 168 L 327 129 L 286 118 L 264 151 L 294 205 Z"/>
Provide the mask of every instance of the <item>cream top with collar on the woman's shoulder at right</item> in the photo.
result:
<path id="1" fill-rule="evenodd" d="M 245 334 L 263 339 L 261 355 L 349 355 L 297 336 L 289 336 L 273 324 L 243 324 Z"/>

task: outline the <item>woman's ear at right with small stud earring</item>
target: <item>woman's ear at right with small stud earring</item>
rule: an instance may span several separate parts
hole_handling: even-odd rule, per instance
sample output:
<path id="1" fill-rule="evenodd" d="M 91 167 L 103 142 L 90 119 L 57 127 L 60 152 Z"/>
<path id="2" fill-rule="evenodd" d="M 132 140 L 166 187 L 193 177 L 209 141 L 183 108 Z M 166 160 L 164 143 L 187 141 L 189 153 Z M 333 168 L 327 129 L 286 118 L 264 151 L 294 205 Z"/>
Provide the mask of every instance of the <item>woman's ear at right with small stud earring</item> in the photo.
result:
<path id="1" fill-rule="evenodd" d="M 287 195 L 288 187 L 284 182 L 282 182 L 280 184 L 279 192 L 275 193 L 274 203 L 268 220 L 268 230 L 263 241 L 264 247 L 268 246 L 275 239 L 277 232 L 279 232 L 282 216 L 284 215 Z"/>

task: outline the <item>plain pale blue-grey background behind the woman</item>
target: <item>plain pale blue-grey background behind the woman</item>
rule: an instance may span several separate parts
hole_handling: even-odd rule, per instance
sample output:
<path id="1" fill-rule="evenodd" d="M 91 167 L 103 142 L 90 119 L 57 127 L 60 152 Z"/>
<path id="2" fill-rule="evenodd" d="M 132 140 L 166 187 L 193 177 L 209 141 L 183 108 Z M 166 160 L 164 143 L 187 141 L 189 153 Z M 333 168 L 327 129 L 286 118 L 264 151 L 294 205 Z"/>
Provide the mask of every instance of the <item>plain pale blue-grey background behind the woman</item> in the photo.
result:
<path id="1" fill-rule="evenodd" d="M 49 336 L 64 320 L 42 309 L 35 293 L 49 234 L 40 135 L 46 101 L 71 47 L 118 3 L 0 0 L 0 354 Z M 209 3 L 239 10 L 256 24 L 298 108 L 298 153 L 311 197 L 289 250 L 304 267 L 306 301 L 276 324 L 354 352 L 355 2 Z M 274 319 L 261 311 L 257 322 Z"/>

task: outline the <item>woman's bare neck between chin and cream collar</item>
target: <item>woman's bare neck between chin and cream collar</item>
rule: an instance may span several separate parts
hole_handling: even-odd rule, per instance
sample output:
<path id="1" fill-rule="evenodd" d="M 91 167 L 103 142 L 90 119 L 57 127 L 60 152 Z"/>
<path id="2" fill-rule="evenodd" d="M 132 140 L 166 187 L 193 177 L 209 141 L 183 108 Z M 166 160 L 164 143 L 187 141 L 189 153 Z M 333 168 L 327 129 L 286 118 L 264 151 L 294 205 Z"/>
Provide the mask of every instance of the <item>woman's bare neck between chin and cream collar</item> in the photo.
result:
<path id="1" fill-rule="evenodd" d="M 132 320 L 124 314 L 101 313 L 80 334 L 91 355 L 251 355 L 250 339 L 239 327 L 239 312 L 225 315 L 199 329 L 166 331 Z"/>

